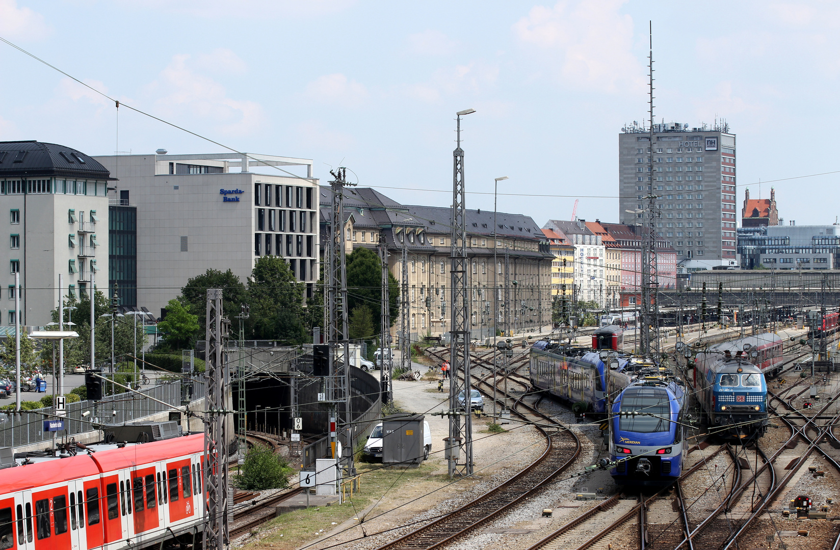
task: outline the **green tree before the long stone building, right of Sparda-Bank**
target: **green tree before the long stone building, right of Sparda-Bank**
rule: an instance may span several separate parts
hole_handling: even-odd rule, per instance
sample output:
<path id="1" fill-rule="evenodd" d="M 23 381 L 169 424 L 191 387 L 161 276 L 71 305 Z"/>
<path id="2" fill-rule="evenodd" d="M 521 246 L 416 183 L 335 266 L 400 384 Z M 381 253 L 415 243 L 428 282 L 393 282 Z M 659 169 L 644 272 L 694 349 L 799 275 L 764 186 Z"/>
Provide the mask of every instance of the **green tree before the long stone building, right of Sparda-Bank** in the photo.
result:
<path id="1" fill-rule="evenodd" d="M 399 315 L 400 285 L 388 271 L 388 298 L 391 326 Z M 382 263 L 370 249 L 359 248 L 347 256 L 347 302 L 352 312 L 356 307 L 369 306 L 380 311 L 382 301 Z M 378 331 L 377 331 L 378 332 Z"/>

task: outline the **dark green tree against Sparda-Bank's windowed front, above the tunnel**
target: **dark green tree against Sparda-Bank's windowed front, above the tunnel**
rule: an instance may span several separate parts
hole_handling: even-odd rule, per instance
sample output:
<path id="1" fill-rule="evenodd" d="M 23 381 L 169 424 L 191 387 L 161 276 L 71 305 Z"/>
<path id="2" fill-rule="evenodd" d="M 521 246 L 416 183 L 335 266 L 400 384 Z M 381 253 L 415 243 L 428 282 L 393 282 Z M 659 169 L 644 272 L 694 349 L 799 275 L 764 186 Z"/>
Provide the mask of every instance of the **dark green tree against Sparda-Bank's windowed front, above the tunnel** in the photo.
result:
<path id="1" fill-rule="evenodd" d="M 302 343 L 306 338 L 303 289 L 304 285 L 297 282 L 285 259 L 279 256 L 258 259 L 248 281 L 249 338 Z"/>

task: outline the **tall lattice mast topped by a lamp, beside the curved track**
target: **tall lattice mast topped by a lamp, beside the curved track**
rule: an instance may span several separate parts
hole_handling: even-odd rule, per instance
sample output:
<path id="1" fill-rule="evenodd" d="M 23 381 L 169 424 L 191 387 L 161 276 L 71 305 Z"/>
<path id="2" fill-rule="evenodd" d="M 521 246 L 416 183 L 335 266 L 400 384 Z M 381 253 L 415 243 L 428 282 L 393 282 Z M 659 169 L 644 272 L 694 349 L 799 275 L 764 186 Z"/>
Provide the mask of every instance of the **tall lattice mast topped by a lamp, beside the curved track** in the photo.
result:
<path id="1" fill-rule="evenodd" d="M 449 317 L 449 364 L 452 377 L 449 379 L 449 410 L 458 411 L 458 395 L 463 392 L 465 416 L 449 416 L 449 477 L 456 474 L 473 473 L 472 458 L 472 415 L 470 384 L 470 296 L 467 295 L 467 236 L 465 220 L 464 191 L 464 149 L 461 149 L 461 117 L 475 113 L 475 109 L 459 111 L 457 143 L 453 152 L 452 177 L 452 237 L 449 253 L 449 272 L 452 296 Z M 463 380 L 459 379 L 463 376 Z M 462 425 L 463 418 L 463 425 Z M 461 451 L 464 464 L 458 464 L 454 454 L 456 446 Z"/>

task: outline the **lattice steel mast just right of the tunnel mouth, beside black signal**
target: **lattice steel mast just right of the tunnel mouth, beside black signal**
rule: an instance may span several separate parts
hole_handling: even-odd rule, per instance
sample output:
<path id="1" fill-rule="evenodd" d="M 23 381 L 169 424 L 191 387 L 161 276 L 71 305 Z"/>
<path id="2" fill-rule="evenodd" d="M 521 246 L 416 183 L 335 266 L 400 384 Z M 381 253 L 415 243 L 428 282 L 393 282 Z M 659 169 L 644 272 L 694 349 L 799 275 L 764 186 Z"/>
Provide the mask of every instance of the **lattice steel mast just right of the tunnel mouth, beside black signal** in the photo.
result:
<path id="1" fill-rule="evenodd" d="M 342 453 L 340 464 L 348 474 L 354 474 L 353 464 L 353 437 L 349 429 L 351 418 L 350 411 L 350 369 L 349 364 L 349 333 L 347 321 L 347 261 L 344 254 L 346 237 L 344 232 L 344 187 L 355 186 L 346 179 L 347 169 L 343 166 L 335 171 L 330 170 L 333 181 L 333 219 L 329 241 L 329 322 L 327 325 L 327 342 L 329 343 L 329 377 L 327 382 L 328 401 L 335 406 L 335 418 L 338 422 L 333 442 L 337 443 L 344 434 L 342 445 L 346 451 Z M 339 348 L 344 359 L 339 357 Z M 341 429 L 343 427 L 344 429 Z M 334 455 L 333 455 L 333 458 Z"/>

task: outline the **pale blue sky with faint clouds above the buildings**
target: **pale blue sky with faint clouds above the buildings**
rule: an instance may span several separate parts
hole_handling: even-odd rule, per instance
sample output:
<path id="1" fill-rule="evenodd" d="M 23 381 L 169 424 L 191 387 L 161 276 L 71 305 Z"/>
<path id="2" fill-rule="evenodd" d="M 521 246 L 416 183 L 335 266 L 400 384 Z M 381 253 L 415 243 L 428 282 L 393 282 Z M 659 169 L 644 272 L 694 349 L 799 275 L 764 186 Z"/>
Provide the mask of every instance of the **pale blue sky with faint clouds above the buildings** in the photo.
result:
<path id="1" fill-rule="evenodd" d="M 323 183 L 344 165 L 405 204 L 451 204 L 455 113 L 475 108 L 466 206 L 492 209 L 507 175 L 499 211 L 540 226 L 575 200 L 578 217 L 618 219 L 618 134 L 648 118 L 648 24 L 654 120 L 729 123 L 739 212 L 745 188 L 774 186 L 785 223 L 834 223 L 840 3 L 0 0 L 0 37 L 109 97 L 312 159 Z M 0 65 L 2 141 L 225 151 L 3 43 Z"/>

